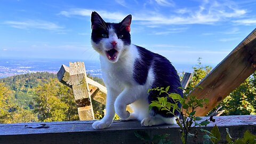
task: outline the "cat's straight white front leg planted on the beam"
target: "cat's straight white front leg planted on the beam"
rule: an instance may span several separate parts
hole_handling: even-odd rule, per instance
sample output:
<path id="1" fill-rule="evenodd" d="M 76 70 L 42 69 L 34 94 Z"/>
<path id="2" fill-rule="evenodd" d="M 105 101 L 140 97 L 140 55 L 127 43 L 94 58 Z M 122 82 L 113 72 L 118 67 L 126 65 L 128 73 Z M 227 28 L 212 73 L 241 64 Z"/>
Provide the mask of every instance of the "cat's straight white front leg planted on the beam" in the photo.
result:
<path id="1" fill-rule="evenodd" d="M 92 124 L 94 129 L 105 129 L 109 127 L 115 116 L 114 103 L 118 93 L 113 89 L 108 89 L 107 102 L 106 102 L 106 115 L 100 120 Z"/>

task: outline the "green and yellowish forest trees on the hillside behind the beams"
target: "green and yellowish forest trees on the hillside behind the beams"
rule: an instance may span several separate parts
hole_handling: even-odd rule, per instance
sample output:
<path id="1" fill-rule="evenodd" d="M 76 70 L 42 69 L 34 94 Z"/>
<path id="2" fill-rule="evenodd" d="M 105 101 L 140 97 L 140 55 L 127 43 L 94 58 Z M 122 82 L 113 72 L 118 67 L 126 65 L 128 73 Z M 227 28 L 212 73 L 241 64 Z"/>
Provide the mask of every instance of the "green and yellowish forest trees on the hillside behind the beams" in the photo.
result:
<path id="1" fill-rule="evenodd" d="M 200 59 L 193 67 L 188 87 L 195 87 L 212 68 Z M 180 73 L 180 78 L 185 73 Z M 103 85 L 102 79 L 91 77 Z M 92 100 L 94 116 L 103 117 L 105 106 Z M 222 115 L 256 114 L 256 73 L 252 74 L 219 106 Z M 219 107 L 217 106 L 217 107 Z M 79 120 L 72 90 L 51 73 L 30 73 L 0 79 L 0 123 L 27 123 Z"/>

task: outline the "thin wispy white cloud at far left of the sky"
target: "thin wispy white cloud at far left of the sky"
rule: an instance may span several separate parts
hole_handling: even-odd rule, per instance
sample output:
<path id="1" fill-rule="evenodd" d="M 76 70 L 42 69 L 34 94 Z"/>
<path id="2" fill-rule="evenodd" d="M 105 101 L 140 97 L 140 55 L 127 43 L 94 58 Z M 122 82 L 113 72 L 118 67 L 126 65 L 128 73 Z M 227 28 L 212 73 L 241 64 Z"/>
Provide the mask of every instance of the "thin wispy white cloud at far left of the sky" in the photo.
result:
<path id="1" fill-rule="evenodd" d="M 56 23 L 43 20 L 26 20 L 26 21 L 4 21 L 5 25 L 10 25 L 19 29 L 46 29 L 46 30 L 63 30 L 64 27 L 58 26 Z"/>

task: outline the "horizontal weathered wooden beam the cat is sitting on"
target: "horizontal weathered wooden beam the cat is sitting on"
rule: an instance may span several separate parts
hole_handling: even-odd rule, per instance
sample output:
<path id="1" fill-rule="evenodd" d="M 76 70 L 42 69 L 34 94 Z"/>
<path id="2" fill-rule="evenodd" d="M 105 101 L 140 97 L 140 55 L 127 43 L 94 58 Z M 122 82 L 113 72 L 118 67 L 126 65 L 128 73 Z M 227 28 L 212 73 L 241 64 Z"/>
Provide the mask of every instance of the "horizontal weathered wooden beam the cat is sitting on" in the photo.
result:
<path id="1" fill-rule="evenodd" d="M 206 130 L 211 130 L 217 124 L 221 133 L 220 143 L 225 142 L 226 128 L 229 129 L 231 137 L 234 139 L 241 138 L 246 130 L 256 134 L 256 115 L 220 116 L 214 118 L 215 122 L 210 123 Z M 135 131 L 145 131 L 151 138 L 155 134 L 167 133 L 170 134 L 169 138 L 172 143 L 181 143 L 178 125 L 142 127 L 139 121 L 114 121 L 108 129 L 94 130 L 92 127 L 93 122 L 0 124 L 0 143 L 143 143 L 143 141 L 135 137 Z M 40 124 L 45 124 L 48 128 L 29 128 Z M 197 143 L 203 143 L 203 134 L 199 131 Z M 193 138 L 189 138 L 188 143 L 194 143 Z"/>

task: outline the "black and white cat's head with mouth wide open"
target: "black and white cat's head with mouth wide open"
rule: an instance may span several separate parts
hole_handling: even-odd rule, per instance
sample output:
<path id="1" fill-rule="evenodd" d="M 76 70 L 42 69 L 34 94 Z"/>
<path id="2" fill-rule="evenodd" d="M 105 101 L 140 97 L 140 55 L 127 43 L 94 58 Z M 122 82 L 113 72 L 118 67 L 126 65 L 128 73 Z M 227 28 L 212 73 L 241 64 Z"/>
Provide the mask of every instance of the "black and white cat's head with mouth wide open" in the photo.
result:
<path id="1" fill-rule="evenodd" d="M 110 62 L 117 62 L 131 44 L 130 25 L 132 15 L 119 23 L 105 22 L 97 12 L 92 12 L 93 49 Z"/>

